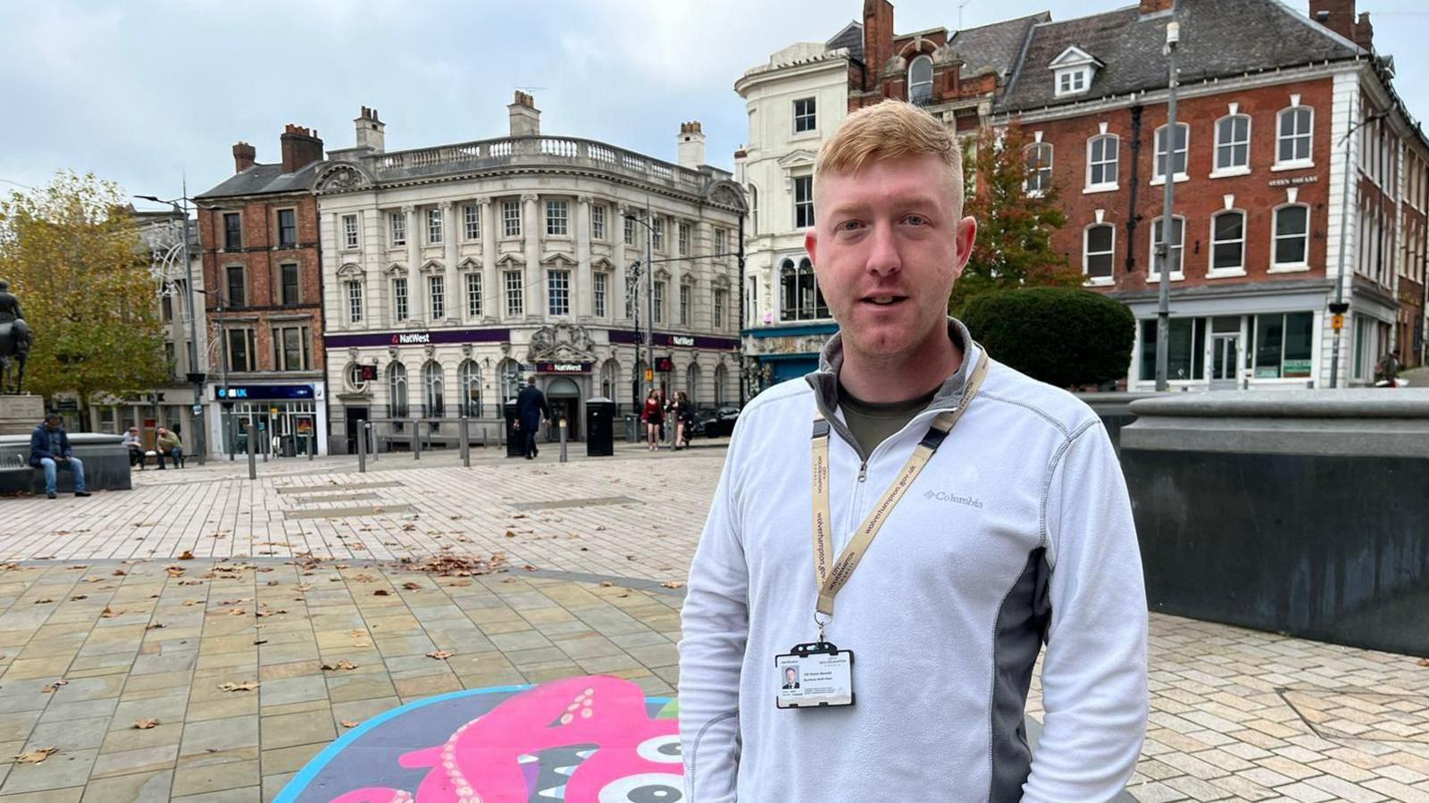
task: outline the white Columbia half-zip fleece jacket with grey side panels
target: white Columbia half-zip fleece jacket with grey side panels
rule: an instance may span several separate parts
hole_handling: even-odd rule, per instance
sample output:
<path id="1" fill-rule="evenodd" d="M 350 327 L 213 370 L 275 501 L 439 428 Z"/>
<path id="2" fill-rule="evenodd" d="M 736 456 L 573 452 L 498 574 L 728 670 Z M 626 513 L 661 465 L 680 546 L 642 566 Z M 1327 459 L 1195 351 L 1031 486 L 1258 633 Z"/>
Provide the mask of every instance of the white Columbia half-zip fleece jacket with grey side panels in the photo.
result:
<path id="1" fill-rule="evenodd" d="M 852 707 L 780 710 L 775 656 L 815 640 L 810 434 L 833 424 L 836 550 L 953 407 L 982 350 L 927 410 L 862 456 L 836 412 L 842 347 L 740 414 L 682 614 L 686 803 L 1116 796 L 1146 727 L 1146 594 L 1126 484 L 1097 416 L 993 361 L 982 391 L 837 597 Z M 860 470 L 866 477 L 860 480 Z M 1043 732 L 1023 733 L 1033 662 Z"/>

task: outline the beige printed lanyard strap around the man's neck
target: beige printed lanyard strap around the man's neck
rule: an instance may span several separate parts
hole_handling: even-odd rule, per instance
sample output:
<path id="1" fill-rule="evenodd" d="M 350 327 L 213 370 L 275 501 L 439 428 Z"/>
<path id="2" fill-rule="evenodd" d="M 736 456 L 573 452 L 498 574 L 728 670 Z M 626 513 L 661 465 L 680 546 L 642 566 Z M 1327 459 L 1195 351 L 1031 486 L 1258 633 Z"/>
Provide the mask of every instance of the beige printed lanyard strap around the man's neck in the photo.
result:
<path id="1" fill-rule="evenodd" d="M 819 584 L 819 604 L 815 609 L 815 622 L 819 623 L 819 640 L 823 640 L 823 626 L 827 624 L 829 619 L 833 617 L 833 597 L 847 584 L 849 577 L 853 576 L 853 570 L 859 567 L 859 562 L 863 560 L 863 554 L 867 553 L 869 544 L 873 543 L 875 536 L 887 522 L 889 514 L 893 513 L 893 507 L 897 506 L 899 500 L 903 499 L 903 493 L 913 484 L 917 474 L 923 470 L 923 466 L 933 457 L 937 447 L 942 446 L 943 439 L 952 432 L 957 419 L 963 417 L 967 412 L 967 406 L 972 404 L 975 396 L 977 396 L 977 389 L 982 387 L 983 379 L 987 377 L 987 356 L 982 354 L 977 360 L 977 366 L 973 369 L 967 387 L 963 390 L 962 402 L 957 407 L 952 410 L 945 410 L 933 419 L 933 424 L 927 427 L 927 434 L 913 450 L 913 456 L 907 459 L 903 469 L 899 472 L 893 484 L 883 492 L 877 504 L 869 512 L 863 523 L 853 533 L 849 544 L 843 547 L 832 570 L 829 567 L 829 556 L 832 552 L 832 539 L 829 537 L 829 522 L 832 519 L 829 513 L 829 422 L 823 419 L 820 413 L 815 413 L 813 419 L 813 573 L 815 583 Z M 825 619 L 820 620 L 819 614 Z"/>

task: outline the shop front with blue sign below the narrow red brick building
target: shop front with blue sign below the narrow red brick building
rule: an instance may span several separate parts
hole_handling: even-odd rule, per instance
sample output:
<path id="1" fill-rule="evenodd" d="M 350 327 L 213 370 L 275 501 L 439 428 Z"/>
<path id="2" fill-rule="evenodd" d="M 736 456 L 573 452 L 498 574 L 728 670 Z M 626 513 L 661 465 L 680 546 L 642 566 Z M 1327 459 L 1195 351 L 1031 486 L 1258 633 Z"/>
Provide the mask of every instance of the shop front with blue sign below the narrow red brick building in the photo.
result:
<path id="1" fill-rule="evenodd" d="M 327 454 L 323 383 L 230 384 L 213 389 L 220 409 L 213 433 L 221 453 L 253 450 L 272 457 Z"/>

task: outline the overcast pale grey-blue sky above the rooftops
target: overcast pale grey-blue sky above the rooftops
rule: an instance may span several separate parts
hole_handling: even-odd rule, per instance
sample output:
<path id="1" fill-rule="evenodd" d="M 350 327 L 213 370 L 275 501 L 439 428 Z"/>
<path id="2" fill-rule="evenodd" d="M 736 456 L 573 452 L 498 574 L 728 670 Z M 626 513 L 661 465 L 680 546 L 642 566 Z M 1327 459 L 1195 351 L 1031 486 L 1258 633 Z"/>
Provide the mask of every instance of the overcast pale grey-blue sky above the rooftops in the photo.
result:
<path id="1" fill-rule="evenodd" d="M 1182 0 L 1195 3 L 1196 0 Z M 899 31 L 956 29 L 960 0 L 897 0 Z M 1309 0 L 1288 4 L 1306 13 Z M 1052 11 L 1070 19 L 1122 0 L 969 0 L 973 27 Z M 732 166 L 747 137 L 733 91 L 793 41 L 823 41 L 860 0 L 536 0 L 100 3 L 0 0 L 0 189 L 93 170 L 127 193 L 197 194 L 233 173 L 230 147 L 277 161 L 286 123 L 326 147 L 353 144 L 362 106 L 387 150 L 504 136 L 512 90 L 542 130 L 674 160 L 683 120 L 700 120 L 707 160 Z M 1429 9 L 1360 0 L 1398 89 L 1429 117 Z M 1190 31 L 1187 31 L 1190 34 Z M 1416 81 L 1415 77 L 1419 77 Z M 140 201 L 140 206 L 144 204 Z"/>

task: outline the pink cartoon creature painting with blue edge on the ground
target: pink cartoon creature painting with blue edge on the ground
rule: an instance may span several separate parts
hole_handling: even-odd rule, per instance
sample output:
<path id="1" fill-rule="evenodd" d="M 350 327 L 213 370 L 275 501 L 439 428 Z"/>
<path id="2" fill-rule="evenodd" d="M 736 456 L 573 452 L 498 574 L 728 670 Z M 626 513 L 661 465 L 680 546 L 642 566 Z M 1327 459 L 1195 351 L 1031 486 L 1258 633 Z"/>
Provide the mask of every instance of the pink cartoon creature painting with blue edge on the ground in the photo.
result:
<path id="1" fill-rule="evenodd" d="M 327 746 L 276 803 L 677 803 L 676 703 L 619 677 L 454 692 Z"/>

